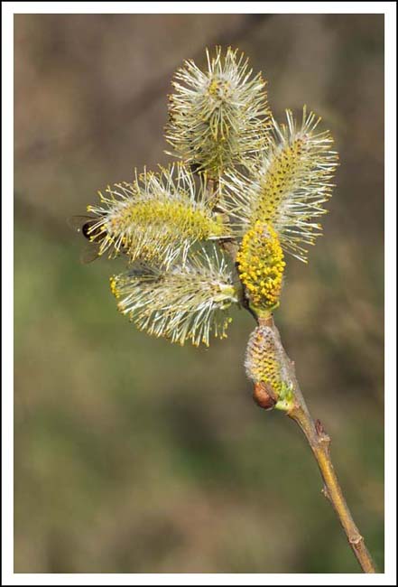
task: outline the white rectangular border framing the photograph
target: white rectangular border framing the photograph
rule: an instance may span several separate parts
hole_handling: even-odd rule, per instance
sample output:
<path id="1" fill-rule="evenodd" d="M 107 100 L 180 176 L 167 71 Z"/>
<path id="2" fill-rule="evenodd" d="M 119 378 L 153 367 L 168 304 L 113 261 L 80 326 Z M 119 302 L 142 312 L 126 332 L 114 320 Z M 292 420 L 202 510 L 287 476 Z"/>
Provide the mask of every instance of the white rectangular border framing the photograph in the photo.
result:
<path id="1" fill-rule="evenodd" d="M 14 573 L 14 14 L 384 14 L 385 35 L 385 571 L 378 574 Z M 4 585 L 389 585 L 396 584 L 396 5 L 394 2 L 4 2 L 3 413 Z"/>

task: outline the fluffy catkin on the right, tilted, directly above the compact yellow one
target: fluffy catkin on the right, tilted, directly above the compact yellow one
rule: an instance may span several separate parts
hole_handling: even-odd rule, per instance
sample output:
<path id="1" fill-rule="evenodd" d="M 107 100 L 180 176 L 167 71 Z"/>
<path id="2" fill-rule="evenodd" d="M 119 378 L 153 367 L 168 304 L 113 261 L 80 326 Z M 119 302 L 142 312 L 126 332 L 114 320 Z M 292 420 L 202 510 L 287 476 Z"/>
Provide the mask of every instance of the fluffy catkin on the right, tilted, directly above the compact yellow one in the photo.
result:
<path id="1" fill-rule="evenodd" d="M 307 245 L 322 234 L 319 217 L 331 197 L 338 154 L 320 118 L 303 108 L 301 123 L 290 110 L 273 120 L 268 148 L 254 155 L 250 173 L 228 170 L 221 179 L 224 211 L 243 234 L 257 220 L 271 224 L 286 253 L 307 263 Z"/>

